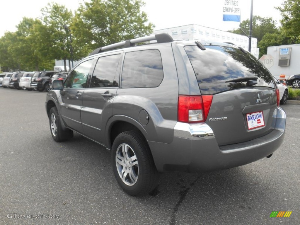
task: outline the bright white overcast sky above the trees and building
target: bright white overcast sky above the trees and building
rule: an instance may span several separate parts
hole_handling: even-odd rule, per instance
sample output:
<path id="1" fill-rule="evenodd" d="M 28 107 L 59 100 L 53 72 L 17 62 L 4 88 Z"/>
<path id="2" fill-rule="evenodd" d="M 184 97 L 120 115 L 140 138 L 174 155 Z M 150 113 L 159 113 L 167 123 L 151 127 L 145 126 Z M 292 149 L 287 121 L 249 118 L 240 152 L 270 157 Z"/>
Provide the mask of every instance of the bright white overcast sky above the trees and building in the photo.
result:
<path id="1" fill-rule="evenodd" d="M 84 0 L 52 0 L 76 10 Z M 149 22 L 155 24 L 155 30 L 197 24 L 219 30 L 237 29 L 238 22 L 223 22 L 222 9 L 225 0 L 143 0 L 142 8 L 148 15 Z M 236 0 L 241 8 L 241 21 L 250 18 L 251 0 Z M 253 15 L 272 17 L 279 22 L 281 15 L 274 7 L 281 6 L 284 0 L 253 0 Z M 4 32 L 16 31 L 16 25 L 23 17 L 41 16 L 41 8 L 51 0 L 1 0 L 0 37 Z"/>

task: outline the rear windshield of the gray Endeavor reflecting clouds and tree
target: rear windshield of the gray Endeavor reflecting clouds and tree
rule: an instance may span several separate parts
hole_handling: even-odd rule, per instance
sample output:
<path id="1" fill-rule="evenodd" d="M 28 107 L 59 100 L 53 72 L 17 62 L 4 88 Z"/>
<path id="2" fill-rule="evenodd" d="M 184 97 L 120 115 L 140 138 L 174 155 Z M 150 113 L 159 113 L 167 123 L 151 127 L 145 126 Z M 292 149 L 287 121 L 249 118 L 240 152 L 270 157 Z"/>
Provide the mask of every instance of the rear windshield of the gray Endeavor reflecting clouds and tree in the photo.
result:
<path id="1" fill-rule="evenodd" d="M 202 95 L 213 95 L 223 91 L 246 87 L 247 82 L 229 82 L 232 79 L 257 76 L 257 84 L 276 88 L 271 73 L 252 54 L 245 54 L 229 46 L 196 45 L 184 49 L 193 66 Z"/>

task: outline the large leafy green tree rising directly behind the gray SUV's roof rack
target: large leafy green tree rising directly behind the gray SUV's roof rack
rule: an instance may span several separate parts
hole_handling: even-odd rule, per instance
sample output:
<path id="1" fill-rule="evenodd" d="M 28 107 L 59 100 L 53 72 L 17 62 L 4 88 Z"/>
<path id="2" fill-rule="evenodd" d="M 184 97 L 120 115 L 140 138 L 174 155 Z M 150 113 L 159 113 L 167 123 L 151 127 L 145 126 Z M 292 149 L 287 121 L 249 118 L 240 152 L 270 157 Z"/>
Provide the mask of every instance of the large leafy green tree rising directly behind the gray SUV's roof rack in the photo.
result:
<path id="1" fill-rule="evenodd" d="M 154 25 L 146 25 L 143 5 L 140 0 L 85 2 L 70 27 L 75 37 L 74 50 L 83 57 L 95 48 L 151 34 Z"/>

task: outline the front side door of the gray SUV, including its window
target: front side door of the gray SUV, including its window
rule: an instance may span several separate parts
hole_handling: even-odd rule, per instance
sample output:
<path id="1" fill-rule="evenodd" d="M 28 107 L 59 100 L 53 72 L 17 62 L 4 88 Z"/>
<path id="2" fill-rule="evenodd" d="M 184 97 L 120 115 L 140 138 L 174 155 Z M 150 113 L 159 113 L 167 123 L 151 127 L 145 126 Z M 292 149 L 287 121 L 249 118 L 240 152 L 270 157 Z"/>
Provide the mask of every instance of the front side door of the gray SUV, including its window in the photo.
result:
<path id="1" fill-rule="evenodd" d="M 88 86 L 88 76 L 92 72 L 93 59 L 78 64 L 64 83 L 61 93 L 61 115 L 66 124 L 79 133 L 84 133 L 81 125 L 80 110 L 82 95 Z"/>

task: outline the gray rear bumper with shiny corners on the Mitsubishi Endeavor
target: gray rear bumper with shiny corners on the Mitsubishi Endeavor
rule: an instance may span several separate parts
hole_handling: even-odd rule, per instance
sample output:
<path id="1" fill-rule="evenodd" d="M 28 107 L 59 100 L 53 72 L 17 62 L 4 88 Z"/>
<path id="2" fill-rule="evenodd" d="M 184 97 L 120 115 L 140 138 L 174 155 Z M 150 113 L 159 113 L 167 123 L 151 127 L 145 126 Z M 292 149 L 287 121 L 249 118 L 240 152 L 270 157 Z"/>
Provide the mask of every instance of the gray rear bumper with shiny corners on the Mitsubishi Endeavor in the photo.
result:
<path id="1" fill-rule="evenodd" d="M 270 155 L 283 142 L 285 124 L 285 112 L 277 108 L 273 113 L 273 131 L 247 142 L 218 146 L 211 129 L 205 123 L 201 123 L 189 125 L 190 131 L 185 128 L 176 130 L 176 127 L 180 127 L 176 125 L 174 139 L 170 144 L 153 141 L 148 143 L 160 172 L 214 171 L 238 167 Z"/>

